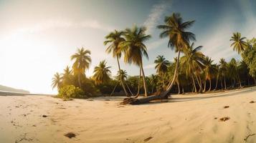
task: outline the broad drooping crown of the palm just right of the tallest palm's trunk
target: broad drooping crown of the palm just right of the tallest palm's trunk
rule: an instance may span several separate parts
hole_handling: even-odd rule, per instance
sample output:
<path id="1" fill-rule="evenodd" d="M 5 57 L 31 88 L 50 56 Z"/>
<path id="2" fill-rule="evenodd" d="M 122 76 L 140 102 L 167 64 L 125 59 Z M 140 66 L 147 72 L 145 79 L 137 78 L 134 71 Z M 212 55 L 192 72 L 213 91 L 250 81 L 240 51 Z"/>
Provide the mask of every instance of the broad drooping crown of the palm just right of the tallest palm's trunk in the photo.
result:
<path id="1" fill-rule="evenodd" d="M 194 43 L 184 50 L 184 56 L 181 57 L 181 67 L 186 76 L 194 72 L 200 72 L 204 68 L 204 54 L 200 51 L 202 46 L 194 48 Z"/>

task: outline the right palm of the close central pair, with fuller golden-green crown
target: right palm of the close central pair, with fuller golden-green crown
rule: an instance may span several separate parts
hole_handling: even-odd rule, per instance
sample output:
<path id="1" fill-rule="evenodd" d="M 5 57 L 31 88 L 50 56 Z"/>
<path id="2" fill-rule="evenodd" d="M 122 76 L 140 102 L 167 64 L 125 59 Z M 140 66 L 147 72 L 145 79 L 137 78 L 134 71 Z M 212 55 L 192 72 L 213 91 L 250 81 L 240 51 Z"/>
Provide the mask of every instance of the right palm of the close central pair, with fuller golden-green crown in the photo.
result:
<path id="1" fill-rule="evenodd" d="M 121 46 L 123 46 L 123 49 L 125 51 L 125 57 L 124 57 L 125 63 L 129 63 L 129 64 L 133 63 L 140 66 L 140 70 L 143 78 L 144 92 L 145 92 L 145 96 L 147 97 L 148 93 L 147 93 L 145 74 L 143 70 L 142 57 L 146 56 L 146 58 L 148 59 L 146 45 L 143 44 L 143 42 L 150 39 L 151 36 L 145 34 L 145 32 L 146 32 L 146 27 L 138 28 L 137 26 L 134 26 L 133 29 L 125 29 L 125 41 L 122 41 Z"/>

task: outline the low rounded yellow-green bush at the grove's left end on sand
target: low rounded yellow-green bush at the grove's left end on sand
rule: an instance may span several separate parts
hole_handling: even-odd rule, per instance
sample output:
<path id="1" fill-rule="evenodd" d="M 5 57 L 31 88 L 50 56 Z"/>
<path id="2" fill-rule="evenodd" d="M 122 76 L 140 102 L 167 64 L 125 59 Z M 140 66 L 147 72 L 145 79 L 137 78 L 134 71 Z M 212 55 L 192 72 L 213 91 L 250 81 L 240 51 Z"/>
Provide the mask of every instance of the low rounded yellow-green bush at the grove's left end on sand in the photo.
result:
<path id="1" fill-rule="evenodd" d="M 59 90 L 57 95 L 60 98 L 70 99 L 70 98 L 87 98 L 85 92 L 82 89 L 75 87 L 73 85 L 66 85 Z"/>

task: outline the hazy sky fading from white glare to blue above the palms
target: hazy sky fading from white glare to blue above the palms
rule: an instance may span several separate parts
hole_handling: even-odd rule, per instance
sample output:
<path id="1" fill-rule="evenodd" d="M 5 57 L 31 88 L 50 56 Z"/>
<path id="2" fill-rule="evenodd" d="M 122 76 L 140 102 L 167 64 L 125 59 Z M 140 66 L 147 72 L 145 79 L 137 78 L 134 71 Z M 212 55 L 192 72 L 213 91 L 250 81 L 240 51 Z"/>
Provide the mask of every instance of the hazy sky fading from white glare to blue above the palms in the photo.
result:
<path id="1" fill-rule="evenodd" d="M 146 42 L 149 59 L 143 59 L 146 74 L 155 73 L 153 61 L 158 55 L 173 60 L 175 53 L 167 48 L 167 39 L 159 39 L 158 24 L 164 16 L 181 13 L 184 21 L 195 20 L 189 29 L 196 34 L 196 46 L 214 61 L 232 57 L 230 36 L 240 31 L 255 36 L 256 1 L 252 0 L 0 0 L 0 84 L 27 89 L 34 93 L 56 93 L 51 88 L 52 75 L 72 65 L 70 55 L 77 48 L 92 51 L 93 63 L 87 75 L 100 60 L 106 59 L 116 74 L 117 64 L 105 54 L 104 37 L 114 29 L 133 25 L 147 26 L 152 38 Z M 122 61 L 122 60 L 121 60 Z M 130 75 L 138 67 L 121 63 Z"/>

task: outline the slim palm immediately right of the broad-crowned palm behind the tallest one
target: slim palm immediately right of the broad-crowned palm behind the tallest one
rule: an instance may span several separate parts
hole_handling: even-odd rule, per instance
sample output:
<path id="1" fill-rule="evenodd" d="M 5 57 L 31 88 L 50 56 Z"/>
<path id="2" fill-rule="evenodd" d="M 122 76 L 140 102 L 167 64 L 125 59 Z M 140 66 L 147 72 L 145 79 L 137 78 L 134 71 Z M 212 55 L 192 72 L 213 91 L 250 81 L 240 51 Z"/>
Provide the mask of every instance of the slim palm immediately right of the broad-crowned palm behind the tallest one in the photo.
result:
<path id="1" fill-rule="evenodd" d="M 209 58 L 209 56 L 207 56 L 204 59 L 204 92 L 206 90 L 206 84 L 207 84 L 207 80 L 209 80 L 209 89 L 208 92 L 211 90 L 212 87 L 212 78 L 214 77 L 214 65 L 212 64 L 213 60 L 211 58 Z"/>

